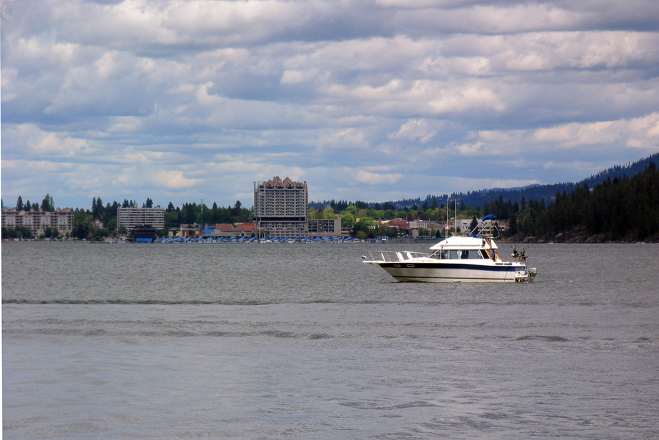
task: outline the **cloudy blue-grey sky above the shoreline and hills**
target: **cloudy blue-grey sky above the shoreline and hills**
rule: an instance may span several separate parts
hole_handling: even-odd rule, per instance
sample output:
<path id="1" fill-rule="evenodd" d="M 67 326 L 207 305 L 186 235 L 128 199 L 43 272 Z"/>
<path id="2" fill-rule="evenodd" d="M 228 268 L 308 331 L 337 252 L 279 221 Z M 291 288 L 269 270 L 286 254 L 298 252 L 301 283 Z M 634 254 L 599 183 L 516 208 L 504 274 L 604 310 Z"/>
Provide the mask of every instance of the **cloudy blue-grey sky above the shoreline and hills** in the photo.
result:
<path id="1" fill-rule="evenodd" d="M 1 193 L 253 205 L 577 182 L 659 151 L 656 0 L 0 0 Z"/>

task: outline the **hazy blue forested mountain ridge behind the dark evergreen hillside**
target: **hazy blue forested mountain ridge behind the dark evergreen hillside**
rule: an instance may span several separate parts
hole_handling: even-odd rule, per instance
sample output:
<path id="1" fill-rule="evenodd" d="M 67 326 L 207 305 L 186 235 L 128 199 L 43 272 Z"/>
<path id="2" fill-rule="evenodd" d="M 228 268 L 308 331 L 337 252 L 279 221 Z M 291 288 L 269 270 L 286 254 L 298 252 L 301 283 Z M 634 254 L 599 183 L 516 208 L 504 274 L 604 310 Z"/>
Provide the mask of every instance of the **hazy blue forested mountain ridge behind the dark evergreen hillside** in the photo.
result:
<path id="1" fill-rule="evenodd" d="M 484 206 L 489 201 L 494 201 L 499 198 L 502 198 L 504 201 L 510 200 L 512 203 L 520 202 L 522 197 L 529 200 L 540 200 L 544 199 L 545 203 L 549 203 L 552 197 L 555 197 L 556 193 L 566 193 L 573 191 L 577 184 L 583 185 L 588 184 L 588 188 L 593 188 L 595 185 L 604 182 L 607 179 L 622 178 L 623 175 L 627 177 L 632 177 L 641 173 L 650 162 L 655 162 L 659 165 L 659 152 L 638 160 L 637 162 L 630 162 L 626 165 L 616 165 L 600 171 L 597 174 L 591 175 L 590 177 L 581 180 L 577 183 L 566 182 L 566 183 L 557 183 L 557 184 L 534 184 L 529 186 L 523 186 L 519 188 L 489 188 L 483 189 L 480 191 L 469 191 L 467 193 L 452 193 L 450 195 L 428 195 L 424 199 L 418 197 L 417 199 L 402 199 L 396 201 L 383 201 L 383 202 L 368 202 L 369 206 L 394 206 L 395 209 L 404 209 L 412 208 L 413 206 L 418 206 L 421 208 L 424 205 L 431 206 L 432 199 L 435 197 L 437 204 L 441 206 L 446 202 L 447 197 L 449 199 L 456 199 L 460 202 L 462 206 L 474 206 L 476 208 Z M 318 208 L 319 206 L 325 206 L 327 204 L 335 204 L 335 201 L 312 201 L 309 206 L 313 208 Z M 346 204 L 343 202 L 341 204 Z"/>

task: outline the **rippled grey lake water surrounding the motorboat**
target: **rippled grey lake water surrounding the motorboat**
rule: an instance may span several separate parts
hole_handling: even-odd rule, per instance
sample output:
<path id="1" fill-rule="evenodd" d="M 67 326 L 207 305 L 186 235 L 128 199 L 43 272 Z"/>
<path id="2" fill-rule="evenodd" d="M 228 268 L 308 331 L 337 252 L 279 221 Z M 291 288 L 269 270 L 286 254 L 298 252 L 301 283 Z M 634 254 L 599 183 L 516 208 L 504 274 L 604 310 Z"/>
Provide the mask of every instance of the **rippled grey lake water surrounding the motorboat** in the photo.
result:
<path id="1" fill-rule="evenodd" d="M 429 246 L 3 242 L 3 435 L 659 436 L 659 245 L 528 245 L 528 284 L 360 258 Z"/>

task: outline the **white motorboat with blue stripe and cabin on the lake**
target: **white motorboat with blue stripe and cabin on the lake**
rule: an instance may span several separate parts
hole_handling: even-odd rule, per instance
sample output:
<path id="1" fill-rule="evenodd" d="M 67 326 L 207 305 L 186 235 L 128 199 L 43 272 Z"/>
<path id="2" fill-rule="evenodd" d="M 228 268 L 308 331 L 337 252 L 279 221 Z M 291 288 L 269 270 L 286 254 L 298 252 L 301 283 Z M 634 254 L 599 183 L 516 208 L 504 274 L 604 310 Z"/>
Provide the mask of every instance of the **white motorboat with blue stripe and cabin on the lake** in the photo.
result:
<path id="1" fill-rule="evenodd" d="M 537 273 L 535 267 L 527 267 L 523 248 L 518 253 L 513 247 L 511 256 L 500 256 L 491 234 L 450 236 L 430 247 L 429 253 L 371 251 L 362 258 L 398 281 L 525 282 Z"/>

